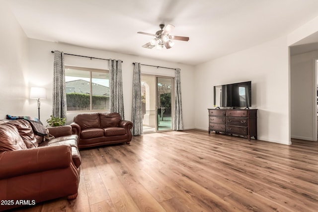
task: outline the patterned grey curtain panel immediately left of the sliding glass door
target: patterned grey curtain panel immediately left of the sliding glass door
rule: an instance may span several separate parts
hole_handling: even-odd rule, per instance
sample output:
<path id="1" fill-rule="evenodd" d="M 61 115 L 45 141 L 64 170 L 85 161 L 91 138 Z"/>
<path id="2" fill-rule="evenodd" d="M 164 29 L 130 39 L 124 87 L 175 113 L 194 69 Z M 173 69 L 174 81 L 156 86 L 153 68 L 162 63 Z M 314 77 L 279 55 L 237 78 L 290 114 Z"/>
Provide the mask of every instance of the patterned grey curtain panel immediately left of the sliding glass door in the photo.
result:
<path id="1" fill-rule="evenodd" d="M 133 78 L 133 108 L 132 108 L 132 128 L 133 136 L 143 134 L 143 111 L 141 101 L 141 65 L 135 63 Z"/>

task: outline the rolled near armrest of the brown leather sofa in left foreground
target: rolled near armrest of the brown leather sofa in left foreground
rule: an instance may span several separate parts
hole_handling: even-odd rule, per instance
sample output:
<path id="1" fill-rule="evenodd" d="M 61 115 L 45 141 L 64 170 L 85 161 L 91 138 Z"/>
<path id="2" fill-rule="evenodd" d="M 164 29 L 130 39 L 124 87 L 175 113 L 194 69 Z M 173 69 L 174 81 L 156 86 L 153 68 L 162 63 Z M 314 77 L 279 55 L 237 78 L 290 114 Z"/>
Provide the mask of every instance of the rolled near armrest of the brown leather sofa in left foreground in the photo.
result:
<path id="1" fill-rule="evenodd" d="M 0 152 L 0 179 L 67 168 L 71 163 L 69 144 L 3 151 Z"/>

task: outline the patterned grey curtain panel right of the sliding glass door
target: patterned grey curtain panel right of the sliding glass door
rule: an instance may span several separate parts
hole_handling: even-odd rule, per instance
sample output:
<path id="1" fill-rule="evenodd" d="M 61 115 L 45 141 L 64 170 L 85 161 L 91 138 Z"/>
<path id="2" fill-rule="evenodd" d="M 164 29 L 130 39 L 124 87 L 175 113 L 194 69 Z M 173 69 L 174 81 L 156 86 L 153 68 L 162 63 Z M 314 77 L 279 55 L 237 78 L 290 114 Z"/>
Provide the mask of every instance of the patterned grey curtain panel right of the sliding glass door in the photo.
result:
<path id="1" fill-rule="evenodd" d="M 183 130 L 183 118 L 182 118 L 182 101 L 181 101 L 181 79 L 180 79 L 180 69 L 176 69 L 174 72 L 174 123 L 173 129 Z"/>

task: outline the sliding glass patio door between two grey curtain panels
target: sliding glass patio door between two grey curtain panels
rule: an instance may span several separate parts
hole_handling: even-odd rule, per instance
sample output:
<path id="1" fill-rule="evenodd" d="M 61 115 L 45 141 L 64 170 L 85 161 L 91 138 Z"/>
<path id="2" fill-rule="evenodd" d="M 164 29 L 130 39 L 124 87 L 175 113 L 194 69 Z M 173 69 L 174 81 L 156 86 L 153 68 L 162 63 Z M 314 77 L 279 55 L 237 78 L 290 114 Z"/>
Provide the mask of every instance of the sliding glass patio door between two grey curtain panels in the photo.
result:
<path id="1" fill-rule="evenodd" d="M 172 131 L 173 77 L 141 75 L 144 133 Z"/>

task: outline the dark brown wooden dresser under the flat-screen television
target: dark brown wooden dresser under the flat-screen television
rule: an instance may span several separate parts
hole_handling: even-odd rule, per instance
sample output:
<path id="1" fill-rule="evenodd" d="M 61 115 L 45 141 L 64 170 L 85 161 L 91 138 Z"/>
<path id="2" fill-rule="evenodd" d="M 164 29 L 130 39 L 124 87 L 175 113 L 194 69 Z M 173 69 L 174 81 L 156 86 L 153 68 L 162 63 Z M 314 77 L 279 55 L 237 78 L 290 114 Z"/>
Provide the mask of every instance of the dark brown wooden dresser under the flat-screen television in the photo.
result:
<path id="1" fill-rule="evenodd" d="M 257 139 L 257 109 L 208 109 L 211 131 Z"/>

